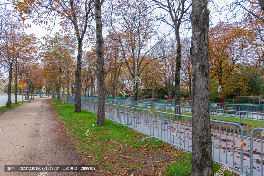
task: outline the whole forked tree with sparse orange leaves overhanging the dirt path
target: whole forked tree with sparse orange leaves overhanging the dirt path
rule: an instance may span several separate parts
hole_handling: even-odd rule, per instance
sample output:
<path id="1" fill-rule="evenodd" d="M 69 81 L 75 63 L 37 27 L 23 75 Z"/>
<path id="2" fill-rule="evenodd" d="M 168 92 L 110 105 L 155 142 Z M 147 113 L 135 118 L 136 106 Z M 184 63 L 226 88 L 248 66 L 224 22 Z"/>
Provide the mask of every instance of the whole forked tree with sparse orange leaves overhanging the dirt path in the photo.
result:
<path id="1" fill-rule="evenodd" d="M 20 12 L 21 19 L 25 22 L 23 17 L 23 11 L 28 11 L 35 16 L 34 23 L 45 24 L 48 30 L 52 30 L 54 27 L 54 21 L 56 17 L 62 19 L 60 25 L 62 31 L 73 33 L 77 40 L 77 66 L 75 71 L 76 76 L 76 92 L 75 92 L 75 112 L 81 112 L 81 68 L 82 68 L 82 47 L 84 42 L 84 36 L 89 36 L 92 33 L 92 19 L 94 14 L 92 9 L 94 8 L 93 0 L 85 0 L 84 2 L 78 0 L 70 1 L 27 1 L 17 2 L 11 0 L 16 5 L 14 8 Z M 21 11 L 23 10 L 23 11 Z M 32 17 L 33 18 L 33 17 Z M 52 22 L 53 26 L 47 26 L 48 22 Z M 74 32 L 72 32 L 74 31 Z M 43 37 L 44 39 L 46 37 Z"/>

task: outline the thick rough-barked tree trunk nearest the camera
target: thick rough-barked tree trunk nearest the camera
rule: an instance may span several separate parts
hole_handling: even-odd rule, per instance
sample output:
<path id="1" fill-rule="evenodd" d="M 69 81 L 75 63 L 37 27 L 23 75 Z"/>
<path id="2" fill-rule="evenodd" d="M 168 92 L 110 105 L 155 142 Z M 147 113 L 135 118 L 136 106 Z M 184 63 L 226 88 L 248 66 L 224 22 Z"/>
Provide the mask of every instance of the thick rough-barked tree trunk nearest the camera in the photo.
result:
<path id="1" fill-rule="evenodd" d="M 192 0 L 192 163 L 191 176 L 214 175 L 209 115 L 209 57 L 207 0 Z"/>

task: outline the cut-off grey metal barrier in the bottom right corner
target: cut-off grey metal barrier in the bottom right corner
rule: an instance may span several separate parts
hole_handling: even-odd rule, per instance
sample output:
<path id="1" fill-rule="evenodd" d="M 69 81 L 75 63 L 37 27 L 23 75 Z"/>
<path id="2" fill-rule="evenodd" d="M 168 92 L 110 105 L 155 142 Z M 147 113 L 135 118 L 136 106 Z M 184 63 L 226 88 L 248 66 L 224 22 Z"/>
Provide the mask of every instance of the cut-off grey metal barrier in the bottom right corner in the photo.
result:
<path id="1" fill-rule="evenodd" d="M 254 133 L 255 131 L 262 131 L 259 133 L 261 143 L 254 144 Z M 253 175 L 261 175 L 263 176 L 264 172 L 264 160 L 263 160 L 263 143 L 264 143 L 264 128 L 254 128 L 250 133 L 250 167 L 246 166 L 246 175 L 253 176 Z M 258 142 L 258 141 L 257 141 Z M 255 162 L 254 162 L 255 160 Z M 254 163 L 253 163 L 254 162 Z M 247 170 L 250 168 L 250 173 Z"/>

